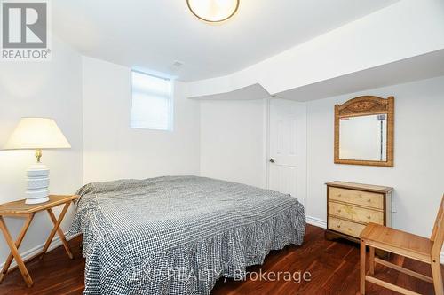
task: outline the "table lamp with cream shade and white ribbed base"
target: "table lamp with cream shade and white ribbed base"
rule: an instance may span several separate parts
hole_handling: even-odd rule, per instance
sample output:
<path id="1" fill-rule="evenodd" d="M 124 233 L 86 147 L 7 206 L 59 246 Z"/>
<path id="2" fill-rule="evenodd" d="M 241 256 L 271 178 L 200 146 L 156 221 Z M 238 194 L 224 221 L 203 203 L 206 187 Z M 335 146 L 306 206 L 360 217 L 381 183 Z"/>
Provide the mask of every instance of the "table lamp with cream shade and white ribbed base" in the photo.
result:
<path id="1" fill-rule="evenodd" d="M 48 118 L 22 118 L 4 145 L 4 150 L 36 150 L 36 164 L 28 167 L 26 204 L 49 200 L 50 169 L 40 162 L 42 149 L 68 149 L 71 145 L 59 126 Z"/>

